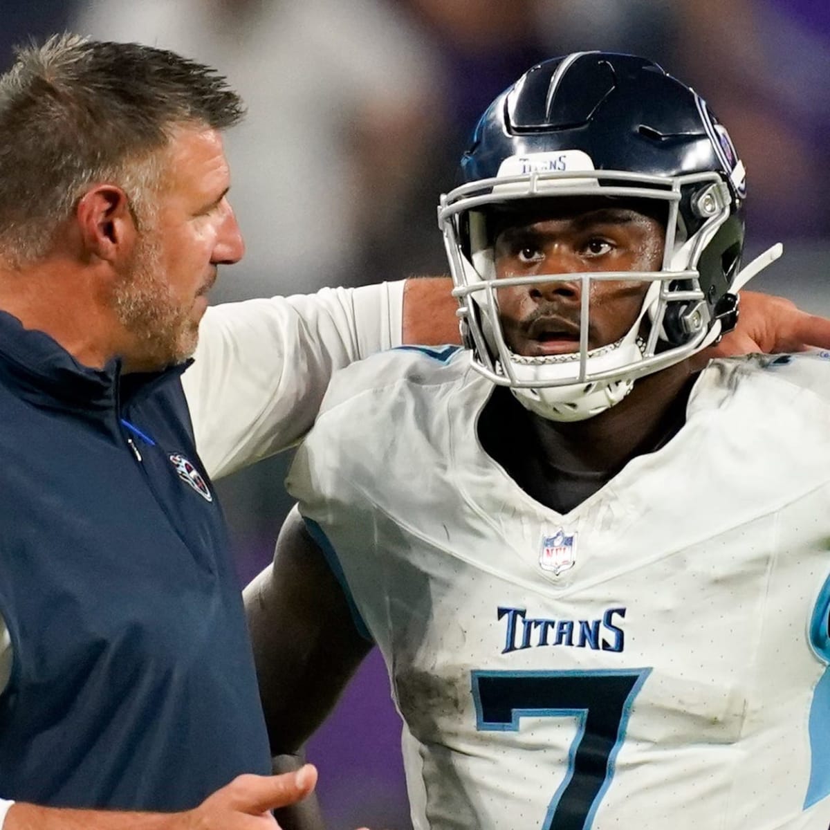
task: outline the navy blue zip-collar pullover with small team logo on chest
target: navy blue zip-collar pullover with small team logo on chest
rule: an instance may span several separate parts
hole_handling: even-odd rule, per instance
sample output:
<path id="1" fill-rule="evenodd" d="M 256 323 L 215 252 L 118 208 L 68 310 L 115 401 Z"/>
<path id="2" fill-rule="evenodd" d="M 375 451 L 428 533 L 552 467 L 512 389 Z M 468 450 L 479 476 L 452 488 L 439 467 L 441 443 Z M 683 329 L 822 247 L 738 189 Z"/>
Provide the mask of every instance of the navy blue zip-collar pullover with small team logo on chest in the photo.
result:
<path id="1" fill-rule="evenodd" d="M 0 797 L 192 808 L 270 758 L 180 374 L 78 364 L 0 312 Z"/>

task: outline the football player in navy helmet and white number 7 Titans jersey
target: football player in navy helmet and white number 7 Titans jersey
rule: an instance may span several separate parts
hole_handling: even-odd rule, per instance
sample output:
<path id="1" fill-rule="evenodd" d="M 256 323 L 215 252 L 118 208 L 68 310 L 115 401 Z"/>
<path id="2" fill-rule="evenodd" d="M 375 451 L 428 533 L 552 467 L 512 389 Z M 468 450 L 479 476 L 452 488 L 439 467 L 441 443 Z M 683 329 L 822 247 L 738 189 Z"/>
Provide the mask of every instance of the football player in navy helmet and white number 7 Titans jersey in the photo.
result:
<path id="1" fill-rule="evenodd" d="M 780 252 L 744 204 L 650 61 L 496 99 L 439 210 L 463 348 L 335 376 L 247 589 L 275 753 L 375 643 L 417 830 L 827 830 L 830 359 L 696 359 Z"/>

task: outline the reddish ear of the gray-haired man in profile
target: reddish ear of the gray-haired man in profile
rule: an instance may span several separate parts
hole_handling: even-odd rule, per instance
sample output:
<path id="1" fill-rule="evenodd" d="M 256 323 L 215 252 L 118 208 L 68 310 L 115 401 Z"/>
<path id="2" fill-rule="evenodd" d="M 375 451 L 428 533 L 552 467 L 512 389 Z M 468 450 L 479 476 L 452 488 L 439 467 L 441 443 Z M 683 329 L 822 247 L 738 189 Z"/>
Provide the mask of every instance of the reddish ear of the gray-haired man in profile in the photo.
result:
<path id="1" fill-rule="evenodd" d="M 99 184 L 76 207 L 81 242 L 87 255 L 116 261 L 132 251 L 138 236 L 127 194 L 113 184 Z"/>

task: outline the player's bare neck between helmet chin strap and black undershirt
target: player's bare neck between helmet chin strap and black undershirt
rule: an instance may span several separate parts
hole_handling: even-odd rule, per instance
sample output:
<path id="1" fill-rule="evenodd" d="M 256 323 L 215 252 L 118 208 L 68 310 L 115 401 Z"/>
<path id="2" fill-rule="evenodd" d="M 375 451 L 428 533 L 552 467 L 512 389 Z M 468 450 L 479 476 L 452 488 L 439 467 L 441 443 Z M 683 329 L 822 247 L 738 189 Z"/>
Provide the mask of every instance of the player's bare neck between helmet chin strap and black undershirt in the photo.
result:
<path id="1" fill-rule="evenodd" d="M 585 421 L 532 415 L 540 450 L 560 470 L 613 476 L 633 457 L 662 447 L 682 426 L 693 378 L 686 363 L 647 375 L 617 406 Z"/>

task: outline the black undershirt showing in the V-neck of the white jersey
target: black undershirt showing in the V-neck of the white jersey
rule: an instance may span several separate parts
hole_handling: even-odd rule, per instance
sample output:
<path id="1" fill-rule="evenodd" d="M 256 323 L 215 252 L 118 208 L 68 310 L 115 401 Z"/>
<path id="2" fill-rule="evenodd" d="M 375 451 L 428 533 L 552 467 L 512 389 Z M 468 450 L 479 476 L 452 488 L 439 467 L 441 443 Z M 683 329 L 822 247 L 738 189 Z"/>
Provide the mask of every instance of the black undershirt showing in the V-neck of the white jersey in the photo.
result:
<path id="1" fill-rule="evenodd" d="M 672 401 L 657 428 L 631 457 L 655 452 L 666 445 L 686 422 L 686 403 L 694 378 Z M 565 470 L 548 458 L 537 437 L 533 419 L 505 387 L 496 387 L 478 420 L 481 447 L 525 493 L 540 504 L 565 514 L 593 496 L 625 466 L 611 470 Z"/>

